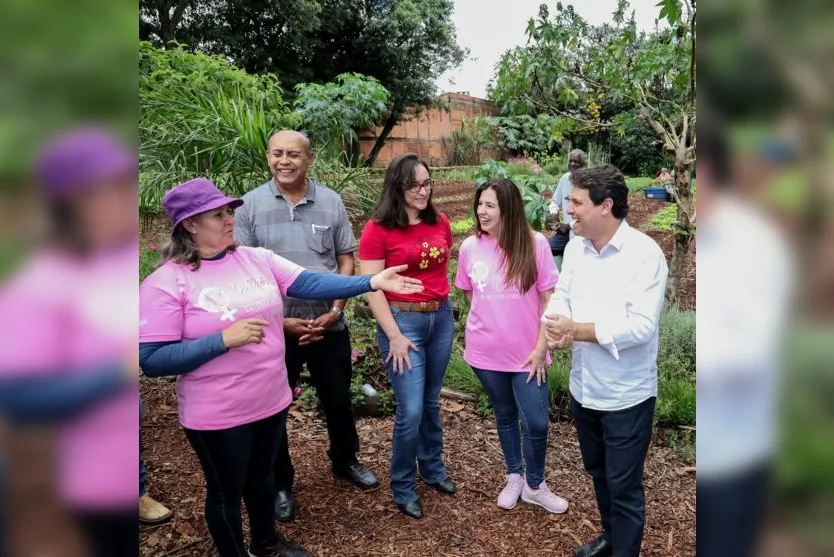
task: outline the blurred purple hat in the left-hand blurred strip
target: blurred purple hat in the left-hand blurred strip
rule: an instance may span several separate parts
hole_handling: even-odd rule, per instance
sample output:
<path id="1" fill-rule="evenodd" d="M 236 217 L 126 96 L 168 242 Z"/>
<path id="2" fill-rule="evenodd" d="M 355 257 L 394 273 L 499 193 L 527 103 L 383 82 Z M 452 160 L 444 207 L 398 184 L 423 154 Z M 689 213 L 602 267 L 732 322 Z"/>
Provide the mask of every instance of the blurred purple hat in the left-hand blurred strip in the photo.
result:
<path id="1" fill-rule="evenodd" d="M 134 176 L 138 181 L 139 158 L 106 128 L 77 128 L 41 150 L 35 175 L 47 196 L 65 199 L 112 178 Z"/>

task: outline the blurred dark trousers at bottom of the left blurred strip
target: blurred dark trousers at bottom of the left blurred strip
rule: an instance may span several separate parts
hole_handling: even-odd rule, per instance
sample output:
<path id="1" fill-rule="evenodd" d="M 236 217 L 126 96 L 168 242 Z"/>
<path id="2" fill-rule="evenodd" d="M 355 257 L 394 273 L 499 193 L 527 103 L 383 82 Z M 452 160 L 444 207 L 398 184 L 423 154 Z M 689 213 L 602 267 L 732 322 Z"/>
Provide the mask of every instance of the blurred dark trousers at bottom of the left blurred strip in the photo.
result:
<path id="1" fill-rule="evenodd" d="M 139 557 L 138 509 L 75 515 L 91 557 Z"/>

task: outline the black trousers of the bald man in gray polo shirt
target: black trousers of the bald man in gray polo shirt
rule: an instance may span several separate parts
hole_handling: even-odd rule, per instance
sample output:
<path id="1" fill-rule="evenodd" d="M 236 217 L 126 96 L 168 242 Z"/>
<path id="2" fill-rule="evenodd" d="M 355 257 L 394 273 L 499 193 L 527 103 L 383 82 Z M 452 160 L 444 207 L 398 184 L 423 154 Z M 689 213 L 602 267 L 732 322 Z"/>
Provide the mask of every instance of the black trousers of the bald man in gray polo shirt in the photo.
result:
<path id="1" fill-rule="evenodd" d="M 330 437 L 328 456 L 336 469 L 345 469 L 356 462 L 359 436 L 350 401 L 350 379 L 353 364 L 350 358 L 350 332 L 328 331 L 324 338 L 307 346 L 299 346 L 298 339 L 284 337 L 287 345 L 287 376 L 295 388 L 301 369 L 307 364 L 310 379 L 321 401 Z M 275 483 L 279 491 L 292 493 L 295 470 L 290 458 L 287 433 L 278 449 L 275 461 Z"/>

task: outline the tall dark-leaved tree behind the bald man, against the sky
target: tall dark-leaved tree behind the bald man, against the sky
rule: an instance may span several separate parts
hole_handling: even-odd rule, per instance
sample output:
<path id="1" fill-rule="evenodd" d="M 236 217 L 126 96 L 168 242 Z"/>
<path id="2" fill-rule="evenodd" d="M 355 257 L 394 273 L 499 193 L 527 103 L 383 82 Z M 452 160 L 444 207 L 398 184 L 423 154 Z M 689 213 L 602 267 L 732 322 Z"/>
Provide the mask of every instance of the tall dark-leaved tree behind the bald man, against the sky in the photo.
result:
<path id="1" fill-rule="evenodd" d="M 156 44 L 169 40 L 162 8 L 174 1 L 140 1 L 140 36 Z M 344 73 L 379 80 L 391 96 L 368 164 L 410 108 L 434 103 L 435 79 L 466 55 L 451 20 L 453 0 L 177 1 L 188 6 L 176 40 L 224 55 L 250 73 L 275 73 L 288 90 Z"/>

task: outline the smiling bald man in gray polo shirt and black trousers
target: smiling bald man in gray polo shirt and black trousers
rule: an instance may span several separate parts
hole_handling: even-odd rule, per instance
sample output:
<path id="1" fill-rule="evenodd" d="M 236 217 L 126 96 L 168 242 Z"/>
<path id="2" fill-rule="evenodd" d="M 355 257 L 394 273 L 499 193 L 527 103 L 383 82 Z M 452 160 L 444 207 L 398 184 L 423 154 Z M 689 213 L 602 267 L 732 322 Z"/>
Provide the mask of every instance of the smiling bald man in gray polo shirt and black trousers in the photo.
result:
<path id="1" fill-rule="evenodd" d="M 356 237 L 339 195 L 307 177 L 315 158 L 309 139 L 296 131 L 280 131 L 269 139 L 266 158 L 272 180 L 243 196 L 244 204 L 235 213 L 235 240 L 270 249 L 311 271 L 353 275 Z M 353 368 L 344 307 L 345 300 L 285 299 L 287 375 L 295 388 L 307 364 L 327 420 L 333 473 L 372 489 L 379 482 L 356 459 L 359 437 L 350 400 Z M 293 477 L 285 436 L 275 463 L 279 520 L 295 514 Z"/>

